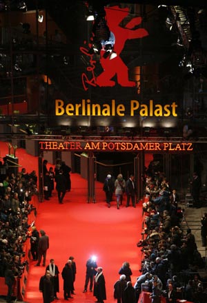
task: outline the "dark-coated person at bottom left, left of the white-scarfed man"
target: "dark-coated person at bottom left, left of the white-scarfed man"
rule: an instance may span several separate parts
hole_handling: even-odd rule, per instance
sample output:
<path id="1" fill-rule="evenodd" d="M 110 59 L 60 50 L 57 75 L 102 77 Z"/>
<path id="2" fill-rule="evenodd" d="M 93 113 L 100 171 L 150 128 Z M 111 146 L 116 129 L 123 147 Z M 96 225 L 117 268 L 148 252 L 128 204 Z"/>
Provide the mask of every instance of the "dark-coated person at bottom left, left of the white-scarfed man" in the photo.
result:
<path id="1" fill-rule="evenodd" d="M 40 278 L 39 291 L 42 293 L 43 303 L 50 303 L 54 301 L 53 284 L 50 271 L 46 271 L 46 274 Z"/>

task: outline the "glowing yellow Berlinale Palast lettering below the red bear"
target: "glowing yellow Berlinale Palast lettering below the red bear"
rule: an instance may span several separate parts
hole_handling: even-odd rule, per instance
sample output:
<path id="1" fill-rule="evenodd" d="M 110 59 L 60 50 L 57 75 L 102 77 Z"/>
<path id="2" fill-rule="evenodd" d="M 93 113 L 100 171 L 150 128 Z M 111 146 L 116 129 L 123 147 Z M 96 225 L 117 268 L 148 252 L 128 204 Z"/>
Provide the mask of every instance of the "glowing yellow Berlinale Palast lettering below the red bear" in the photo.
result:
<path id="1" fill-rule="evenodd" d="M 131 100 L 126 106 L 123 103 L 117 103 L 112 99 L 110 103 L 92 103 L 90 99 L 82 99 L 81 103 L 65 104 L 62 100 L 55 100 L 55 115 L 62 116 L 125 116 L 126 110 L 130 109 L 130 116 L 157 116 L 157 117 L 177 117 L 177 104 L 156 104 L 150 100 L 148 104 L 137 100 Z"/>

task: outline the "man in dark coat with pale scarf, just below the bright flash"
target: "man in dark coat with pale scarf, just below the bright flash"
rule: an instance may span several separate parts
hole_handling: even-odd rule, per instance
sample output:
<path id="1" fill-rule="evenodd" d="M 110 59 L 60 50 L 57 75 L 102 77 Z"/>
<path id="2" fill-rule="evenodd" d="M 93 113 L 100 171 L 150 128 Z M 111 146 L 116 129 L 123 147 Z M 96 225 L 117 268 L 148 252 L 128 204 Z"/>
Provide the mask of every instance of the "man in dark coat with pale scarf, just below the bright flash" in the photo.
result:
<path id="1" fill-rule="evenodd" d="M 106 282 L 103 275 L 102 267 L 97 268 L 97 274 L 94 280 L 93 295 L 97 297 L 97 302 L 103 303 L 106 300 Z"/>

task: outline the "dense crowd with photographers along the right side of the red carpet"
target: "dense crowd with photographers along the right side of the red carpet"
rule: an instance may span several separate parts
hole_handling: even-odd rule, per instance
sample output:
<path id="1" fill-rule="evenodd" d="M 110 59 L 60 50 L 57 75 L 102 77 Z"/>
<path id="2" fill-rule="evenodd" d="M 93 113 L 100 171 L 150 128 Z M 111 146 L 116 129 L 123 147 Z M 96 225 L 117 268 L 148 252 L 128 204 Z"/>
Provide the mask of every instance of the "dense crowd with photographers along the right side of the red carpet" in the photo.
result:
<path id="1" fill-rule="evenodd" d="M 194 178 L 195 176 L 197 174 L 194 174 Z M 171 303 L 176 303 L 177 299 L 207 302 L 206 277 L 201 278 L 199 275 L 201 269 L 206 267 L 206 260 L 201 258 L 197 250 L 191 229 L 181 229 L 184 210 L 179 207 L 177 191 L 170 188 L 164 174 L 159 172 L 146 176 L 145 183 L 144 231 L 137 243 L 144 258 L 141 262 L 141 275 L 134 286 L 137 302 L 143 289 L 152 293 L 154 303 L 160 303 L 161 296 Z M 198 202 L 197 191 L 195 196 Z M 204 213 L 201 218 L 204 246 L 206 217 Z"/>

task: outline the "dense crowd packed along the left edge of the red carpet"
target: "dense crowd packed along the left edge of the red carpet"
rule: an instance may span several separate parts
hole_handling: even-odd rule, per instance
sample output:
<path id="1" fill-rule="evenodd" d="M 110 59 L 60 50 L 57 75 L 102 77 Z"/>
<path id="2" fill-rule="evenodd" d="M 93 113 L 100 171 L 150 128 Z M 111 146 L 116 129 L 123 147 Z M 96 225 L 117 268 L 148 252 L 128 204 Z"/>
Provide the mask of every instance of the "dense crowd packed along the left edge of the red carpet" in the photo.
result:
<path id="1" fill-rule="evenodd" d="M 21 278 L 28 265 L 24 244 L 30 239 L 28 215 L 36 211 L 32 196 L 38 195 L 36 171 L 25 168 L 8 174 L 8 165 L 0 163 L 0 277 L 8 286 L 7 302 L 12 300 L 15 278 Z"/>

